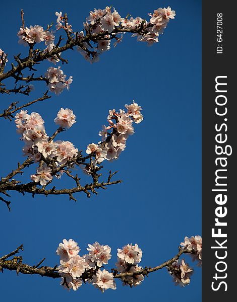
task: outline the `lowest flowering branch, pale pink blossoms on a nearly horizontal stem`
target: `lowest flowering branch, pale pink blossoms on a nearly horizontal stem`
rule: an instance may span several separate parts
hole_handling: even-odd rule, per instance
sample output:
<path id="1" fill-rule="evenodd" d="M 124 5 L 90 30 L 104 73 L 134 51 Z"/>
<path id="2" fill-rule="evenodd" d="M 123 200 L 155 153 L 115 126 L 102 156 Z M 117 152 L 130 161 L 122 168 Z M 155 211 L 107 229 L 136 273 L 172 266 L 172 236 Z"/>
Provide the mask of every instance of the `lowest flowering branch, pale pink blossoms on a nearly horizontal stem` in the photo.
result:
<path id="1" fill-rule="evenodd" d="M 191 244 L 189 240 L 192 241 L 192 239 L 195 242 Z M 20 249 L 23 251 L 23 245 L 21 245 L 15 251 L 0 258 L 0 270 L 3 272 L 4 269 L 8 269 L 15 270 L 17 274 L 20 272 L 22 274 L 38 274 L 50 278 L 62 278 L 61 284 L 68 289 L 73 288 L 74 290 L 82 285 L 82 281 L 84 283 L 90 281 L 103 292 L 108 288 L 116 289 L 113 279 L 121 279 L 124 285 L 133 287 L 141 284 L 144 276 L 148 276 L 148 274 L 165 267 L 173 276 L 176 284 L 179 283 L 181 286 L 185 286 L 190 282 L 188 277 L 193 270 L 185 264 L 184 260 L 182 260 L 180 265 L 179 259 L 182 254 L 190 254 L 192 257 L 197 257 L 197 249 L 199 249 L 199 252 L 201 251 L 202 238 L 200 236 L 191 237 L 191 239 L 186 237 L 185 243 L 181 243 L 179 253 L 174 257 L 155 267 L 146 266 L 145 268 L 138 267 L 136 264 L 141 261 L 141 249 L 137 245 L 126 245 L 123 249 L 117 249 L 118 262 L 116 263 L 116 269 L 111 269 L 111 273 L 100 270 L 103 267 L 102 265 L 107 264 L 111 258 L 111 248 L 109 246 L 101 246 L 97 242 L 93 245 L 89 244 L 89 248 L 87 248 L 89 254 L 81 257 L 78 255 L 80 248 L 77 243 L 72 239 L 69 241 L 64 240 L 63 242 L 56 250 L 57 254 L 61 256 L 60 266 L 40 266 L 45 258 L 33 266 L 22 263 L 22 257 L 15 256 Z M 12 256 L 14 256 L 13 259 L 9 260 Z M 103 279 L 101 279 L 101 276 Z"/>

